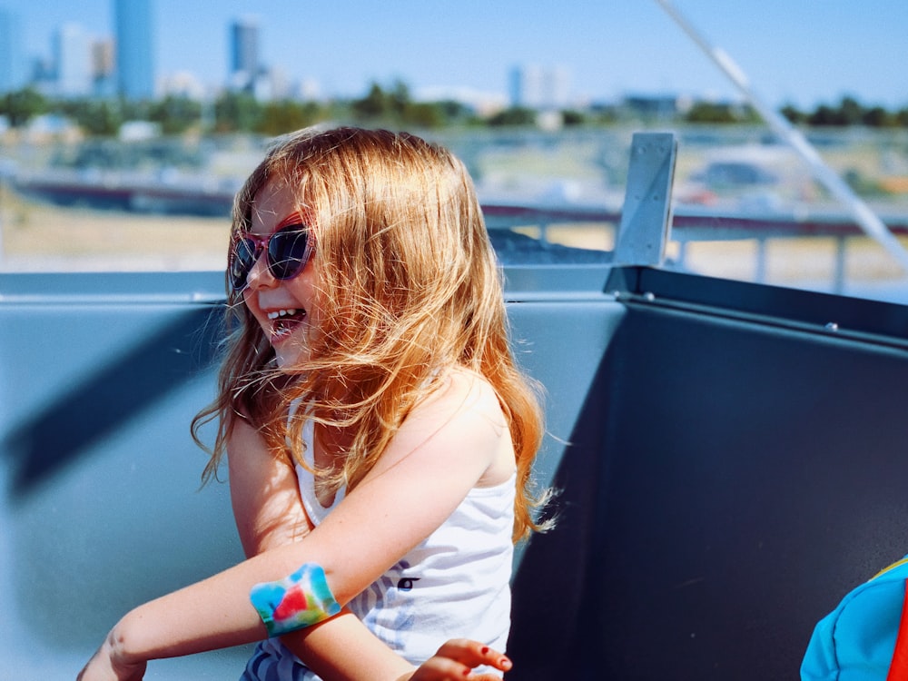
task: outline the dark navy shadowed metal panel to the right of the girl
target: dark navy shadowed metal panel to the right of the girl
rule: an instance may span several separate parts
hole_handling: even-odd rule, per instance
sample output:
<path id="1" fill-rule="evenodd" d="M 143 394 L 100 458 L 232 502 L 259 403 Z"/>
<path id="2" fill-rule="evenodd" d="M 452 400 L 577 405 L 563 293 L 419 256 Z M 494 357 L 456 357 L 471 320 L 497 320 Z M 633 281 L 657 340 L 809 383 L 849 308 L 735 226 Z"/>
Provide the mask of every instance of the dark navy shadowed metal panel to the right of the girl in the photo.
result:
<path id="1" fill-rule="evenodd" d="M 908 311 L 659 277 L 706 300 L 626 295 L 558 471 L 562 527 L 516 578 L 532 663 L 514 678 L 566 660 L 590 679 L 795 677 L 815 622 L 908 553 L 905 337 L 785 314 L 814 298 L 875 329 Z M 775 300 L 713 307 L 735 290 Z"/>

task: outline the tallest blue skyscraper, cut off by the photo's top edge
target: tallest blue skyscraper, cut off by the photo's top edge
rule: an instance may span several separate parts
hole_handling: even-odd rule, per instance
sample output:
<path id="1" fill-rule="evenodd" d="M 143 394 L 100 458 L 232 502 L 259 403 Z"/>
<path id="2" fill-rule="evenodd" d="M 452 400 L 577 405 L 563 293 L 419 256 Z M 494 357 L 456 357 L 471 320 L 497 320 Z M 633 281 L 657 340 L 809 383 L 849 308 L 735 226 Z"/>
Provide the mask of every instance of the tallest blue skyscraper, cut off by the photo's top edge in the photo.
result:
<path id="1" fill-rule="evenodd" d="M 126 99 L 154 96 L 152 0 L 114 0 L 117 91 Z"/>

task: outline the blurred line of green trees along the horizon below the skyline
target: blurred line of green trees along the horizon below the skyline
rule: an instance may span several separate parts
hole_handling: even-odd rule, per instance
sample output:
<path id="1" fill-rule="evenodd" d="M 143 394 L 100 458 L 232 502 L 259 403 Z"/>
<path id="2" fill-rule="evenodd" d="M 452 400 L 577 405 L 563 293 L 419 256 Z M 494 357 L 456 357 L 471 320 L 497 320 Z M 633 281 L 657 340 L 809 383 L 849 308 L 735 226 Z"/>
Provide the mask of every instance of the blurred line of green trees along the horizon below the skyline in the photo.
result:
<path id="1" fill-rule="evenodd" d="M 212 123 L 202 121 L 203 106 L 207 107 Z M 262 104 L 252 94 L 243 92 L 222 94 L 213 104 L 202 104 L 178 95 L 144 102 L 123 99 L 52 100 L 34 88 L 0 95 L 0 115 L 5 115 L 14 127 L 25 125 L 35 116 L 47 113 L 64 114 L 93 136 L 115 135 L 125 121 L 159 123 L 164 134 L 183 133 L 193 126 L 201 129 L 202 125 L 211 126 L 218 133 L 281 134 L 329 119 L 425 129 L 457 124 L 532 126 L 537 124 L 538 115 L 534 109 L 513 107 L 483 120 L 468 105 L 453 100 L 414 102 L 410 88 L 400 80 L 384 88 L 373 82 L 362 98 L 332 104 L 303 103 L 291 99 Z M 794 104 L 785 104 L 780 113 L 795 124 L 908 128 L 908 108 L 889 111 L 882 106 L 866 107 L 849 96 L 843 97 L 836 105 L 819 104 L 813 112 L 802 111 Z M 608 124 L 620 119 L 620 110 L 614 106 L 566 110 L 561 114 L 567 126 Z M 747 105 L 697 102 L 681 120 L 735 124 L 757 123 L 759 118 Z"/>

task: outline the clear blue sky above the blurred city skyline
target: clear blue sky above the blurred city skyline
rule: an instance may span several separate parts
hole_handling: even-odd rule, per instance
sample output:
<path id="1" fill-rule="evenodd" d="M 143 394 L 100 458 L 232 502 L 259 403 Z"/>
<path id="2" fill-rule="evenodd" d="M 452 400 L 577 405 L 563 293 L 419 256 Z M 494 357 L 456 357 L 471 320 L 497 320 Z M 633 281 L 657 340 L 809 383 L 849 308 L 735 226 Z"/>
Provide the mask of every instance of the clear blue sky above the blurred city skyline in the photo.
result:
<path id="1" fill-rule="evenodd" d="M 515 64 L 564 66 L 578 97 L 735 89 L 654 0 L 153 0 L 157 71 L 206 84 L 227 74 L 228 26 L 254 15 L 262 61 L 323 94 L 365 92 L 400 78 L 417 92 L 465 86 L 507 92 Z M 29 54 L 50 54 L 54 29 L 112 31 L 111 0 L 0 0 L 20 15 Z M 908 106 L 906 0 L 675 0 L 771 104 Z"/>

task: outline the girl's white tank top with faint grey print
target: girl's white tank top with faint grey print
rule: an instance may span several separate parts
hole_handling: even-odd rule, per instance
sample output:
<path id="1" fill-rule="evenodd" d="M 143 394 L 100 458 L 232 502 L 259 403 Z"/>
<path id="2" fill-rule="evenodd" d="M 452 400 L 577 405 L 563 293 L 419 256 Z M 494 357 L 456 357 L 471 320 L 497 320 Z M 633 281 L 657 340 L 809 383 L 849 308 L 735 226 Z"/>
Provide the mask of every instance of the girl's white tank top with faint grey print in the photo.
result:
<path id="1" fill-rule="evenodd" d="M 302 429 L 312 465 L 312 421 Z M 315 495 L 311 471 L 296 466 L 302 504 L 319 525 L 331 507 Z M 510 628 L 510 586 L 517 476 L 473 488 L 449 518 L 350 602 L 373 634 L 413 664 L 433 656 L 449 638 L 468 637 L 504 652 Z"/>

